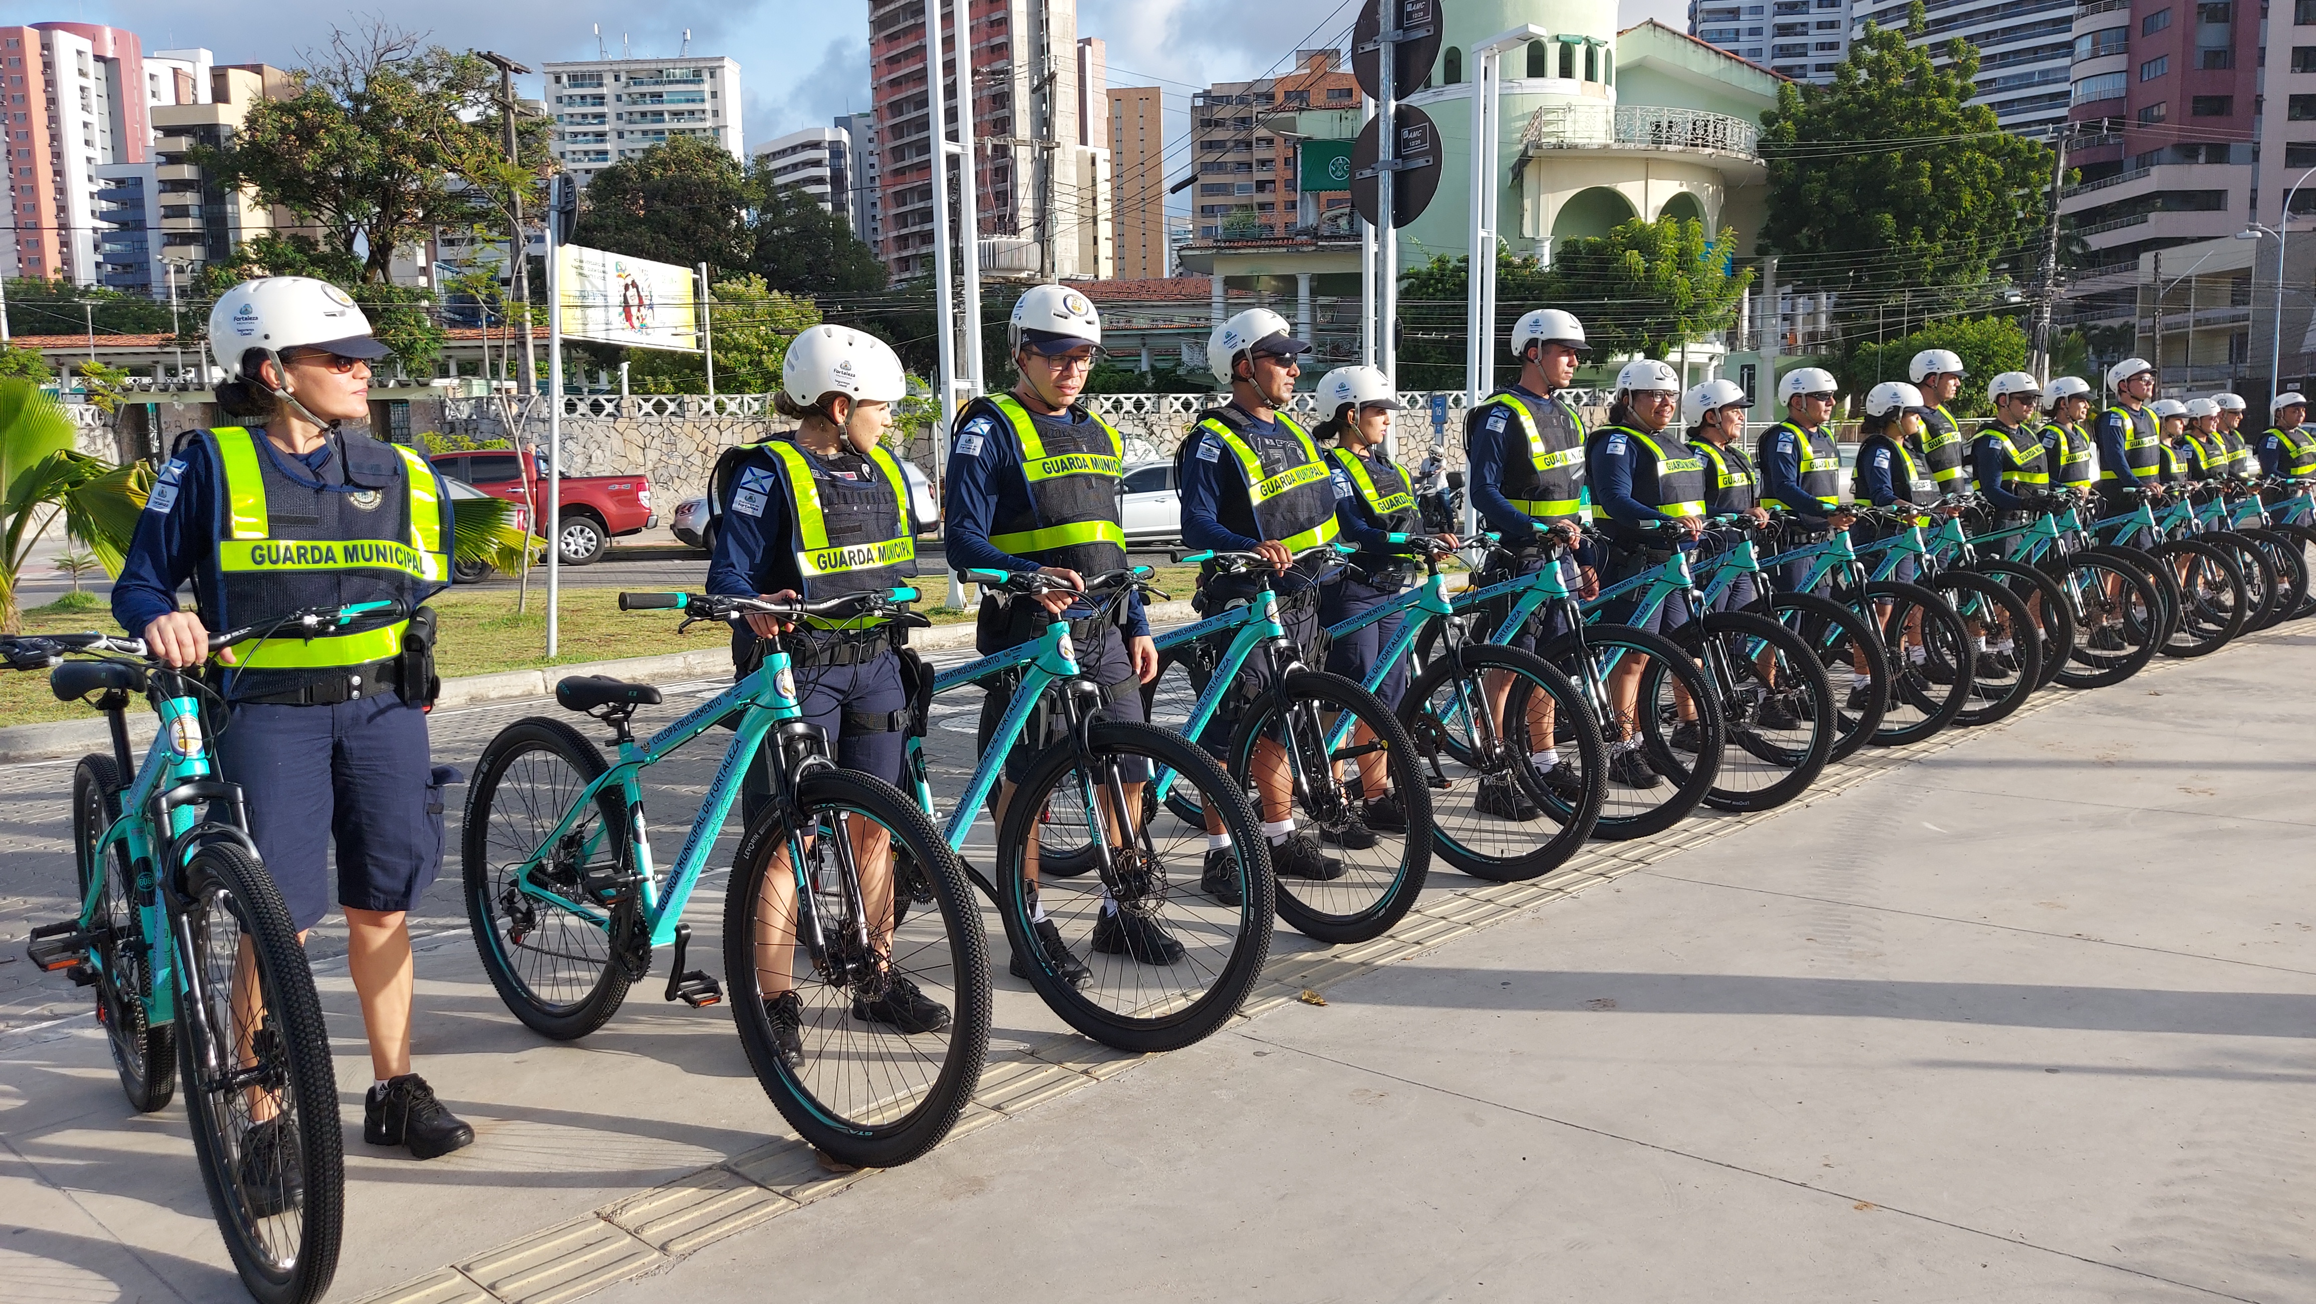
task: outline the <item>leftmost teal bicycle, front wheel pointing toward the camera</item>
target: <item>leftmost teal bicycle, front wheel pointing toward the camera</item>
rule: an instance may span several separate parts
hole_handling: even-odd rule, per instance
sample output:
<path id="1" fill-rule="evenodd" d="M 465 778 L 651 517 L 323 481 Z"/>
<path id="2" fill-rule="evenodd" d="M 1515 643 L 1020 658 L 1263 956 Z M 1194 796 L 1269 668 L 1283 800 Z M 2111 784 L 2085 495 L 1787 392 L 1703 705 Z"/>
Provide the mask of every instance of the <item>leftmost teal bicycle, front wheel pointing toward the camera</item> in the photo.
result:
<path id="1" fill-rule="evenodd" d="M 211 635 L 208 649 L 396 614 L 394 602 L 308 609 Z M 104 711 L 113 739 L 111 755 L 86 755 L 72 771 L 81 910 L 32 929 L 32 964 L 95 987 L 137 1112 L 185 1086 L 208 1207 L 250 1295 L 320 1299 L 345 1216 L 338 1077 L 306 947 L 250 843 L 243 792 L 211 764 L 201 704 L 215 693 L 146 655 L 141 639 L 16 637 L 0 639 L 0 655 L 12 669 L 53 667 L 56 697 Z M 160 716 L 137 767 L 132 695 Z"/>

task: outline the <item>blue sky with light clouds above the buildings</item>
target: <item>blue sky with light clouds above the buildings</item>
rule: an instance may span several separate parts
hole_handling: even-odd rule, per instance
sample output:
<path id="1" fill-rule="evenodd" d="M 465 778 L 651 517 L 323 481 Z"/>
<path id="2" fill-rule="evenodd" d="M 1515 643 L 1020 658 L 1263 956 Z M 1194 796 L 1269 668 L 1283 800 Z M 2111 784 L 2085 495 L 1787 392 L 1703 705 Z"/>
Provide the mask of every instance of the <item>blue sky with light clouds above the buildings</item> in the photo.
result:
<path id="1" fill-rule="evenodd" d="M 1624 21 L 1684 23 L 1677 0 L 1621 0 Z M 278 0 L 72 0 L 25 21 L 90 21 L 134 30 L 146 49 L 208 46 L 220 63 L 296 67 L 299 51 L 327 44 L 334 25 L 357 25 L 373 9 L 280 5 Z M 725 53 L 741 65 L 746 134 L 764 141 L 831 116 L 868 109 L 868 19 L 862 0 L 725 0 L 720 5 L 586 5 L 510 0 L 398 0 L 394 23 L 447 46 L 496 49 L 537 67 L 593 58 L 595 23 L 616 56 L 621 39 L 639 58 L 669 56 L 692 32 L 692 53 Z M 1163 86 L 1183 95 L 1209 81 L 1262 76 L 1297 44 L 1336 44 L 1357 16 L 1355 0 L 1079 0 L 1084 37 L 1109 49 L 1112 86 Z M 535 93 L 535 86 L 533 86 Z M 1181 123 L 1167 123 L 1170 134 Z"/>

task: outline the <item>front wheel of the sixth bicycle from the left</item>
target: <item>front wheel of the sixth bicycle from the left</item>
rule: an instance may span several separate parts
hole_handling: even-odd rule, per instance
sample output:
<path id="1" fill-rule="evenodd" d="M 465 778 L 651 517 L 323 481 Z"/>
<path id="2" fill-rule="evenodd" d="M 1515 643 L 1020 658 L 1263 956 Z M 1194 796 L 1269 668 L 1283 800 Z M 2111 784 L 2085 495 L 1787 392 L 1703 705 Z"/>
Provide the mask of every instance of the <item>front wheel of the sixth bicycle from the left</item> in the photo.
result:
<path id="1" fill-rule="evenodd" d="M 1545 660 L 1605 706 L 1600 739 L 1610 762 L 1596 838 L 1621 843 L 1663 834 L 1705 801 L 1721 774 L 1728 732 L 1721 699 L 1695 658 L 1663 635 L 1586 625 L 1554 639 Z M 1614 704 L 1621 686 L 1633 690 L 1630 709 Z M 1637 762 L 1621 760 L 1626 755 Z"/>

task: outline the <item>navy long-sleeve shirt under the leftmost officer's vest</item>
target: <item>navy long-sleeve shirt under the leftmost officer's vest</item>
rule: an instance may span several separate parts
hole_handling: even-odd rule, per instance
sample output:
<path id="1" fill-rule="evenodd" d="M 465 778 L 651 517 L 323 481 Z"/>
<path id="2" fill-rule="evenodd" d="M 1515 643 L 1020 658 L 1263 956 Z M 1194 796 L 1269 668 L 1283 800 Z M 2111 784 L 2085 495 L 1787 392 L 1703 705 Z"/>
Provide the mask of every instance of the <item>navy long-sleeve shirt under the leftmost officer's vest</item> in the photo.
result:
<path id="1" fill-rule="evenodd" d="M 310 454 L 285 454 L 273 447 L 264 428 L 250 426 L 250 435 L 259 456 L 273 459 L 280 468 L 303 468 L 301 479 L 327 479 L 338 456 L 334 440 Z M 167 486 L 169 468 L 176 470 L 174 493 Z M 137 530 L 120 558 L 120 577 L 113 579 L 113 621 L 139 637 L 146 625 L 178 609 L 176 591 L 218 556 L 218 535 L 225 533 L 225 472 L 208 456 L 204 440 L 185 440 L 162 468 L 162 477 L 164 484 L 153 489 L 153 498 L 137 517 Z M 435 472 L 435 500 L 442 505 L 442 542 L 449 544 L 456 526 L 440 472 Z M 445 574 L 440 588 L 449 588 L 449 581 Z"/>

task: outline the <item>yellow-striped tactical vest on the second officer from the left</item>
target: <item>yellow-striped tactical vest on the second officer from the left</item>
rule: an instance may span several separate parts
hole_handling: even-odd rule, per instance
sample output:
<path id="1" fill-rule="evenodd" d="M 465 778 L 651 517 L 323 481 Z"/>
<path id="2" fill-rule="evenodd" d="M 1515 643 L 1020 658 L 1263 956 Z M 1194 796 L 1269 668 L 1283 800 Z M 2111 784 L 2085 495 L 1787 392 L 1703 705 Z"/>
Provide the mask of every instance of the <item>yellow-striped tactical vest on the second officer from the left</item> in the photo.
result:
<path id="1" fill-rule="evenodd" d="M 875 475 L 848 477 L 797 447 L 771 440 L 764 452 L 780 463 L 787 482 L 790 547 L 797 556 L 799 593 L 808 602 L 873 593 L 917 574 L 917 530 L 908 521 L 908 482 L 882 447 L 866 454 Z M 748 479 L 741 477 L 741 489 Z M 862 630 L 885 616 L 852 616 L 806 623 L 820 630 Z"/>

